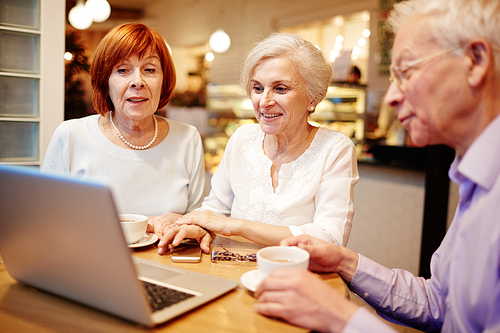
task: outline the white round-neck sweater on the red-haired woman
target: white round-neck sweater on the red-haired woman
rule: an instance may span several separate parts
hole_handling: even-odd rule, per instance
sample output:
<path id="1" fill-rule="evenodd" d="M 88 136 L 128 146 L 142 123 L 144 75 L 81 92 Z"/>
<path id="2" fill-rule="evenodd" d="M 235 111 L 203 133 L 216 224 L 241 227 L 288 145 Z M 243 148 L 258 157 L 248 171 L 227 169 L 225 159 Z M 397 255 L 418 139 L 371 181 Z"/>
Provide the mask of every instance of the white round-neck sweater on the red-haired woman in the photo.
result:
<path id="1" fill-rule="evenodd" d="M 185 214 L 201 205 L 205 164 L 195 127 L 165 119 L 170 131 L 160 144 L 130 150 L 104 136 L 99 117 L 91 115 L 61 123 L 50 141 L 42 171 L 109 186 L 119 213 Z"/>

